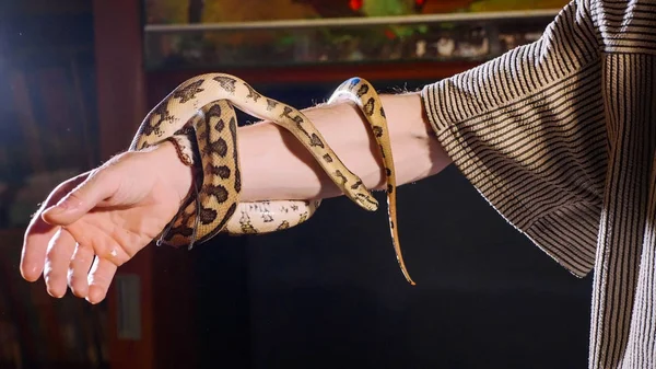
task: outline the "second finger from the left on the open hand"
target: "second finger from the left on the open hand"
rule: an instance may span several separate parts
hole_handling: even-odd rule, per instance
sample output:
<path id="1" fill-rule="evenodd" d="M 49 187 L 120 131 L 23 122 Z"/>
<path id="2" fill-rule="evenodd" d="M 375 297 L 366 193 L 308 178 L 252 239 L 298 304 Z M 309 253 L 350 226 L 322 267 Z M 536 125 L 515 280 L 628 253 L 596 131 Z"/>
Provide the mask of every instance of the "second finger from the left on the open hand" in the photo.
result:
<path id="1" fill-rule="evenodd" d="M 60 298 L 66 293 L 68 286 L 67 270 L 75 249 L 75 240 L 66 230 L 60 228 L 48 244 L 44 280 L 46 289 L 52 297 Z"/>

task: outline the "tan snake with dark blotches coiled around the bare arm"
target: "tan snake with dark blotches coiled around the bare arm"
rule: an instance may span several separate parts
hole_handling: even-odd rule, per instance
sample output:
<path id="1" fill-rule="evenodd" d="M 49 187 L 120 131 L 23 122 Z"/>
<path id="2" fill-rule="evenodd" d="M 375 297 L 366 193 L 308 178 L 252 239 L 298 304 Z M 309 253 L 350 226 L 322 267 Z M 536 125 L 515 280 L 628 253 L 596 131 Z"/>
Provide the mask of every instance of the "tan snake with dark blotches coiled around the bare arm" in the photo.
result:
<path id="1" fill-rule="evenodd" d="M 378 143 L 396 258 L 406 280 L 414 286 L 399 243 L 396 174 L 383 104 L 374 87 L 360 77 L 339 84 L 327 105 L 341 101 L 359 107 Z M 235 107 L 290 131 L 349 199 L 367 211 L 378 209 L 372 192 L 344 165 L 303 112 L 262 95 L 236 76 L 204 73 L 181 82 L 160 101 L 141 122 L 128 149 L 141 151 L 171 141 L 179 159 L 196 169 L 194 191 L 160 234 L 157 245 L 191 249 L 195 243 L 203 243 L 221 232 L 238 235 L 281 231 L 305 222 L 320 206 L 321 199 L 239 200 L 242 181 Z"/>

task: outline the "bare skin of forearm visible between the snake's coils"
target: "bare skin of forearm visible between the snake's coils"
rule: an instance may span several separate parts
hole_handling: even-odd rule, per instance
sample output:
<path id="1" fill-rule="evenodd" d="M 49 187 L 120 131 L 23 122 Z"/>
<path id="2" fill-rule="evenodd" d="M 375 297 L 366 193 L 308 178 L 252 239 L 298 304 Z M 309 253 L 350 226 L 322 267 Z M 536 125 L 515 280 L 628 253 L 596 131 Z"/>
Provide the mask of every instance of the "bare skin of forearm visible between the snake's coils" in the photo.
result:
<path id="1" fill-rule="evenodd" d="M 419 93 L 382 95 L 391 137 L 397 185 L 432 175 L 450 163 L 429 126 Z M 328 145 L 370 189 L 385 186 L 378 147 L 360 109 L 349 103 L 303 111 Z M 308 199 L 341 195 L 312 154 L 286 129 L 260 122 L 238 128 L 242 200 Z M 172 145 L 164 155 L 175 155 Z M 176 187 L 184 196 L 191 172 L 181 163 L 175 171 Z"/>

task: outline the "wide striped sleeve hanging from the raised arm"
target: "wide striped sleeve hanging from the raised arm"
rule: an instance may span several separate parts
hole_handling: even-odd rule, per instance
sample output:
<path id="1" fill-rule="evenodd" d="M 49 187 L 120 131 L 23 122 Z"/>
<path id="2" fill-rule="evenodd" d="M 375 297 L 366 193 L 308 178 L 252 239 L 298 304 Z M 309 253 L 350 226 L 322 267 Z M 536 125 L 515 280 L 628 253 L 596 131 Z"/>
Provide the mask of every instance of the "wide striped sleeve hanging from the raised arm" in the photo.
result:
<path id="1" fill-rule="evenodd" d="M 599 41 L 588 11 L 572 1 L 539 41 L 422 91 L 461 173 L 579 277 L 595 265 L 607 166 Z"/>

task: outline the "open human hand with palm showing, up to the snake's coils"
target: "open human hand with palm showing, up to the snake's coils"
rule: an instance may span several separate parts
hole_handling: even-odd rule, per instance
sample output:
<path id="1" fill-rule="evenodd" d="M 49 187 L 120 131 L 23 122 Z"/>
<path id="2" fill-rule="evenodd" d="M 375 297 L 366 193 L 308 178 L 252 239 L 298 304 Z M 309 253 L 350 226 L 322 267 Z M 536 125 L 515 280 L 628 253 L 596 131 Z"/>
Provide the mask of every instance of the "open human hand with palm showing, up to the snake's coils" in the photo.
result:
<path id="1" fill-rule="evenodd" d="M 176 215 L 191 185 L 191 169 L 165 142 L 121 153 L 61 183 L 25 232 L 21 274 L 47 291 L 101 302 L 116 269 L 148 245 Z"/>

